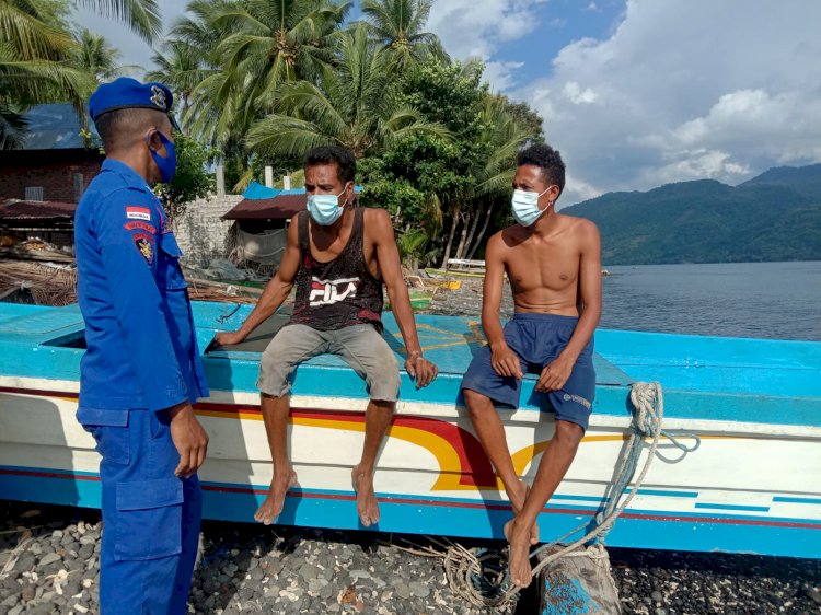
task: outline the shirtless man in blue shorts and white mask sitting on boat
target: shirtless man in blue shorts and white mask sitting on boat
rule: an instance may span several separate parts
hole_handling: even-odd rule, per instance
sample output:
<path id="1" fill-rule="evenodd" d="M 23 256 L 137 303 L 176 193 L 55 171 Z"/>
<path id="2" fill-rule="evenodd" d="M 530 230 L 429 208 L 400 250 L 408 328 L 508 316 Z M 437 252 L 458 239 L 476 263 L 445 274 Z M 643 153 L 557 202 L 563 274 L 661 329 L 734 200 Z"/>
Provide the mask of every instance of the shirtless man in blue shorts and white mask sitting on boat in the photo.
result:
<path id="1" fill-rule="evenodd" d="M 539 542 L 539 513 L 565 476 L 585 434 L 595 393 L 593 332 L 601 315 L 601 245 L 595 224 L 556 213 L 565 186 L 557 151 L 533 146 L 519 154 L 513 179 L 513 224 L 487 244 L 482 326 L 488 345 L 462 381 L 465 404 L 516 517 L 505 525 L 514 584 L 531 580 L 530 545 Z M 516 314 L 502 329 L 504 274 Z M 539 373 L 542 407 L 556 429 L 529 489 L 513 469 L 494 404 L 516 408 L 522 378 Z"/>

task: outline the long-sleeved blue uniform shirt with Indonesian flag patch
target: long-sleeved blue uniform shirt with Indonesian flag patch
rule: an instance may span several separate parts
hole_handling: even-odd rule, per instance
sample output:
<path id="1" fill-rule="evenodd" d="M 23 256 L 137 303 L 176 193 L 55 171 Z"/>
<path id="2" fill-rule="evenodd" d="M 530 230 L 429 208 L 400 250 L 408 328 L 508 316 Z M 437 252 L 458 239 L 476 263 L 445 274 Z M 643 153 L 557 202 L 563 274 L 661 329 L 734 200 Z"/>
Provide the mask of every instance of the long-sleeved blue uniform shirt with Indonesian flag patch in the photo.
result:
<path id="1" fill-rule="evenodd" d="M 78 205 L 74 244 L 88 346 L 80 422 L 124 426 L 129 409 L 208 396 L 182 252 L 146 181 L 106 160 Z"/>

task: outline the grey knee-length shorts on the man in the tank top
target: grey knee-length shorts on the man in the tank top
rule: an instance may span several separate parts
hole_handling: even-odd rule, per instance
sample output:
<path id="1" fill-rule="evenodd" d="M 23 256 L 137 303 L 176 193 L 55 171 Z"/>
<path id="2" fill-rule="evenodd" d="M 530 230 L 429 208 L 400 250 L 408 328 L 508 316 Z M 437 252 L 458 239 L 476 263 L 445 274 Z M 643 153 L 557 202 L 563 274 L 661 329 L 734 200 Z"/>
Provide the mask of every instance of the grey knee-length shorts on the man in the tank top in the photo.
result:
<path id="1" fill-rule="evenodd" d="M 316 355 L 336 355 L 368 383 L 371 399 L 395 402 L 400 392 L 396 356 L 373 325 L 352 325 L 337 330 L 317 330 L 307 325 L 279 329 L 259 362 L 257 388 L 281 397 L 291 390 L 290 375 Z"/>

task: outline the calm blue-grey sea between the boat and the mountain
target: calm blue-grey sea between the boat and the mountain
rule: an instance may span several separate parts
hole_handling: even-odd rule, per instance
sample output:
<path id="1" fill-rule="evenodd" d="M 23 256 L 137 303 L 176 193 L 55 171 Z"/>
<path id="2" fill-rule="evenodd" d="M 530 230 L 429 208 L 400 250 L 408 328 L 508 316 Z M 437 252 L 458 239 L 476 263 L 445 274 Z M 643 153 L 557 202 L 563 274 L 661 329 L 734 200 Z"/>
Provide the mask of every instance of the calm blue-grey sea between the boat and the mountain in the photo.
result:
<path id="1" fill-rule="evenodd" d="M 602 328 L 821 340 L 821 262 L 605 268 Z"/>

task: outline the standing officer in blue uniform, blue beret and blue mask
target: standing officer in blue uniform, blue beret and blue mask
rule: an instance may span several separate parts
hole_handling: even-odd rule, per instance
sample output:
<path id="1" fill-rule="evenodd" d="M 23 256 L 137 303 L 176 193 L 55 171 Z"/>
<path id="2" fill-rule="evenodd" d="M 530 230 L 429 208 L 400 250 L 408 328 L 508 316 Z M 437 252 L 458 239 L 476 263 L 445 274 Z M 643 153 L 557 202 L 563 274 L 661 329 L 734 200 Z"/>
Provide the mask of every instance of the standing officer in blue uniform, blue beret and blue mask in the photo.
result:
<path id="1" fill-rule="evenodd" d="M 208 388 L 180 247 L 149 188 L 176 167 L 171 105 L 165 85 L 127 78 L 89 101 L 106 159 L 74 220 L 77 417 L 103 457 L 103 615 L 185 613 L 199 537 L 208 437 L 192 404 Z"/>

